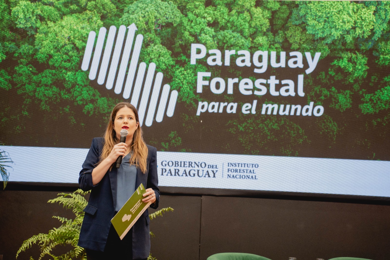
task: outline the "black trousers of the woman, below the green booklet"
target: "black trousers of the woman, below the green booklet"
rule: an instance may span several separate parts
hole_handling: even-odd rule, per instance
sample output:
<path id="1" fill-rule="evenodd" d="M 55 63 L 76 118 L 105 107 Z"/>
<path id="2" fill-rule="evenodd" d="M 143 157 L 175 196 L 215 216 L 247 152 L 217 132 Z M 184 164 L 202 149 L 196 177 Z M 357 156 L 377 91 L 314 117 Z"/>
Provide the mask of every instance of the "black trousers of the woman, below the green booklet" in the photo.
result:
<path id="1" fill-rule="evenodd" d="M 88 260 L 133 260 L 133 228 L 121 240 L 111 225 L 104 252 L 86 249 Z M 142 259 L 142 260 L 146 260 Z"/>

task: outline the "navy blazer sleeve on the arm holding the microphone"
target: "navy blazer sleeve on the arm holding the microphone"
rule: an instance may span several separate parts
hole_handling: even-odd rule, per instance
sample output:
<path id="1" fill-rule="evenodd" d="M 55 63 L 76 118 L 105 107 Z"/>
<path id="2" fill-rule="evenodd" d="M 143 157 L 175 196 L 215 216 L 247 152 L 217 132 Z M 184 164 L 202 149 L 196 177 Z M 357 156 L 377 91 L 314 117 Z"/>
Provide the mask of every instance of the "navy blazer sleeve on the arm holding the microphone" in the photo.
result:
<path id="1" fill-rule="evenodd" d="M 99 139 L 94 138 L 92 140 L 91 147 L 87 153 L 87 157 L 83 163 L 83 169 L 80 171 L 78 178 L 78 185 L 83 191 L 89 191 L 96 185 L 92 183 L 92 171 L 96 167 L 96 164 L 99 162 Z"/>

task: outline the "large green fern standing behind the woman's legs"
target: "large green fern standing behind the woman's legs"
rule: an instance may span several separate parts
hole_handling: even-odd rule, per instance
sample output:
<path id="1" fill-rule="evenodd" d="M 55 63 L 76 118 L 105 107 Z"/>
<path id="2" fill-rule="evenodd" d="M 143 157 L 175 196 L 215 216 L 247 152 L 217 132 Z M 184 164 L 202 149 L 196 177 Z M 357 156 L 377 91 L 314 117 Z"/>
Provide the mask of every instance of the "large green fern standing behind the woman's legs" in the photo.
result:
<path id="1" fill-rule="evenodd" d="M 45 255 L 49 255 L 53 260 L 72 260 L 72 259 L 82 259 L 87 260 L 87 255 L 85 249 L 78 246 L 78 237 L 80 235 L 81 224 L 83 223 L 84 212 L 83 209 L 87 206 L 88 202 L 85 199 L 89 191 L 84 192 L 81 189 L 73 193 L 58 193 L 59 197 L 55 199 L 50 199 L 48 203 L 59 203 L 62 204 L 64 208 L 71 209 L 75 215 L 74 219 L 67 219 L 65 217 L 53 216 L 53 218 L 58 219 L 61 222 L 61 225 L 58 228 L 53 228 L 47 234 L 40 233 L 34 235 L 31 238 L 25 240 L 18 252 L 16 253 L 16 258 L 19 254 L 26 249 L 31 248 L 32 245 L 38 244 L 41 250 L 41 255 L 38 260 L 41 260 Z M 162 208 L 149 215 L 150 219 L 154 219 L 157 216 L 162 216 L 165 212 L 173 211 L 173 208 Z M 154 234 L 151 232 L 151 235 Z M 55 256 L 51 252 L 58 246 L 71 245 L 73 248 L 68 252 Z M 34 260 L 30 256 L 30 260 Z M 147 260 L 157 260 L 152 255 L 149 255 Z"/>

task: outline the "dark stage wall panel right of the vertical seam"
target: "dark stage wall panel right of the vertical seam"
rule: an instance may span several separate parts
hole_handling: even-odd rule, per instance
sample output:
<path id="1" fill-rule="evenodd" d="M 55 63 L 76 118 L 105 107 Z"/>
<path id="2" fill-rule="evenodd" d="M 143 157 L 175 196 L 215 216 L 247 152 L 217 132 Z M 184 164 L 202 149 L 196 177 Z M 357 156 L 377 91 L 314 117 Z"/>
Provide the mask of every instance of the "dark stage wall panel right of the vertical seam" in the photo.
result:
<path id="1" fill-rule="evenodd" d="M 387 260 L 390 207 L 319 201 L 202 197 L 200 260 L 243 252 L 273 260 L 351 256 Z"/>

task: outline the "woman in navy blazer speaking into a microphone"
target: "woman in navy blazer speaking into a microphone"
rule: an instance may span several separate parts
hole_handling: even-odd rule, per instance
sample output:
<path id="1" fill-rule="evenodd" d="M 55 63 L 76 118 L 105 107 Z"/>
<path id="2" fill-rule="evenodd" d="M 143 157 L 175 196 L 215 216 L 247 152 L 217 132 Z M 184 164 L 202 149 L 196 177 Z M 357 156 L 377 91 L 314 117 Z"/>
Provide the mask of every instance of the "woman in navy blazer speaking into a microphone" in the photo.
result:
<path id="1" fill-rule="evenodd" d="M 128 130 L 126 142 L 119 142 L 122 129 Z M 122 155 L 117 169 L 113 164 Z M 150 252 L 149 214 L 141 215 L 123 238 L 115 232 L 110 220 L 141 183 L 146 188 L 144 202 L 158 207 L 157 150 L 142 138 L 138 112 L 133 105 L 121 102 L 112 110 L 105 137 L 92 140 L 80 171 L 78 183 L 91 191 L 85 207 L 78 245 L 87 250 L 87 259 L 146 259 Z"/>

